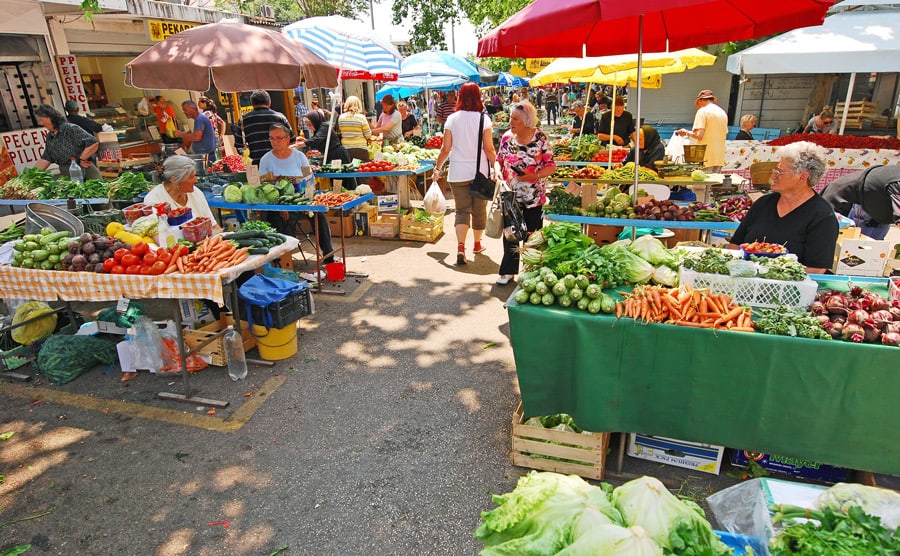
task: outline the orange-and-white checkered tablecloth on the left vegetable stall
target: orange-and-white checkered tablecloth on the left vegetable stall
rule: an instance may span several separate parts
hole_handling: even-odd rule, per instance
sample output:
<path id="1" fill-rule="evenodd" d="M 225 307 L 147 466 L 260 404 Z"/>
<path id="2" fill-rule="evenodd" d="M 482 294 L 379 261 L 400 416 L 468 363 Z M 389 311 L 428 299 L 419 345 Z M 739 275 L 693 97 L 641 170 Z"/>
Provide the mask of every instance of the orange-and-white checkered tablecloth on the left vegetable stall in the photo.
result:
<path id="1" fill-rule="evenodd" d="M 39 301 L 114 301 L 128 299 L 209 299 L 225 302 L 222 284 L 233 281 L 248 270 L 297 249 L 297 238 L 285 236 L 285 242 L 266 255 L 252 255 L 241 264 L 215 273 L 165 274 L 138 276 L 63 272 L 0 266 L 0 297 Z"/>

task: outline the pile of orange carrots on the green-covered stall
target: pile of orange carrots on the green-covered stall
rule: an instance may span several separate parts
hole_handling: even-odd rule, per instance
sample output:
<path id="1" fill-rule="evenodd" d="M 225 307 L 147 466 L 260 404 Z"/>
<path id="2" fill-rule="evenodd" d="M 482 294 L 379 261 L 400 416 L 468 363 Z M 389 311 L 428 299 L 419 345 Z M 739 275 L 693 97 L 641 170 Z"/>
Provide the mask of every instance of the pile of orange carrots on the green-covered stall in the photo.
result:
<path id="1" fill-rule="evenodd" d="M 691 286 L 638 286 L 616 304 L 616 317 L 697 328 L 753 332 L 753 311 L 725 294 Z"/>

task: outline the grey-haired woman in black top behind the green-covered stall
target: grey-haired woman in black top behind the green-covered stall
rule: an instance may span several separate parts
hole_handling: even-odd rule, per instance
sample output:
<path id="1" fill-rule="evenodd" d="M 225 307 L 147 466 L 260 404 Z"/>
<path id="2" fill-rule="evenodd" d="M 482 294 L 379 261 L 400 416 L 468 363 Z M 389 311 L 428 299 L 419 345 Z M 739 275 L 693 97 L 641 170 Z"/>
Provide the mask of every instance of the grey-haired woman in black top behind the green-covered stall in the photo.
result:
<path id="1" fill-rule="evenodd" d="M 782 147 L 778 151 L 781 160 L 772 172 L 772 193 L 753 203 L 729 246 L 779 243 L 797 255 L 810 274 L 831 268 L 837 217 L 828 201 L 813 189 L 825 173 L 824 153 L 825 149 L 808 141 Z"/>

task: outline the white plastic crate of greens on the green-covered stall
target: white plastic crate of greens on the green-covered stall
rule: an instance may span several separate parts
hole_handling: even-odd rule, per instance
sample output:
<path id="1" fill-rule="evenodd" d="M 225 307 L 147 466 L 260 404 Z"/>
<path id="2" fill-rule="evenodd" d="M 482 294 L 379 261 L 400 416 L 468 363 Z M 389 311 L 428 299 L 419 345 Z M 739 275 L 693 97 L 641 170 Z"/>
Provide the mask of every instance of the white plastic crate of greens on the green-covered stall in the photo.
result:
<path id="1" fill-rule="evenodd" d="M 808 307 L 816 299 L 818 283 L 810 278 L 802 282 L 740 278 L 724 274 L 704 274 L 681 268 L 681 285 L 707 288 L 712 293 L 724 293 L 740 305 L 773 308 Z"/>

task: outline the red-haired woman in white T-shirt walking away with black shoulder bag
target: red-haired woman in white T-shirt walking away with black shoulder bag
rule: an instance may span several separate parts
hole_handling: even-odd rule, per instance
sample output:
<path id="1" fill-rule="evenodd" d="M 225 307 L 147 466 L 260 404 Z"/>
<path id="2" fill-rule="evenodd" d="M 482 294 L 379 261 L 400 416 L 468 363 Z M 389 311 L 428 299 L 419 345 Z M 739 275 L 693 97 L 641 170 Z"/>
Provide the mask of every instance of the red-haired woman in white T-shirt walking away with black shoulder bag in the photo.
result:
<path id="1" fill-rule="evenodd" d="M 478 150 L 478 126 L 481 131 L 481 151 Z M 479 169 L 490 177 L 496 154 L 491 136 L 491 119 L 484 114 L 481 89 L 475 83 L 466 83 L 459 91 L 456 112 L 447 117 L 444 124 L 444 143 L 434 165 L 435 177 L 440 175 L 444 162 L 449 159 L 447 183 L 453 190 L 456 202 L 456 264 L 466 264 L 466 236 L 469 226 L 475 238 L 473 253 L 483 253 L 481 237 L 487 224 L 487 201 L 472 197 L 469 184 L 475 179 L 476 162 Z"/>

